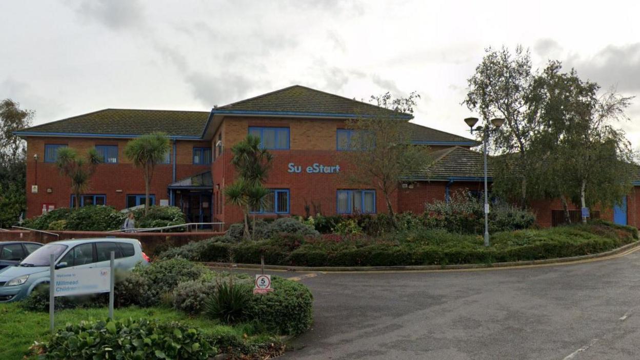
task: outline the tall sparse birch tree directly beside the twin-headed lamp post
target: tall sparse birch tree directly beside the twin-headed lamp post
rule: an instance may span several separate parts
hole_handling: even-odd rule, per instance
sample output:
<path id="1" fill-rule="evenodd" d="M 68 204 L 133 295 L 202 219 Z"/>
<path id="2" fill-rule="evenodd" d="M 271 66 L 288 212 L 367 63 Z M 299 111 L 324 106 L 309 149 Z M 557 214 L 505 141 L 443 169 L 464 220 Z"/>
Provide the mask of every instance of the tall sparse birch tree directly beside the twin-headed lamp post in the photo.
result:
<path id="1" fill-rule="evenodd" d="M 527 206 L 529 168 L 538 159 L 529 156 L 532 134 L 539 126 L 540 96 L 533 86 L 536 74 L 531 70 L 531 55 L 522 46 L 511 53 L 502 47 L 499 51 L 486 49 L 476 73 L 468 79 L 468 93 L 463 101 L 469 110 L 476 111 L 490 126 L 493 117 L 505 123 L 492 136 L 492 147 L 501 155 L 495 159 L 499 171 L 494 174 L 494 190 L 505 197 L 520 199 Z M 483 136 L 479 132 L 478 136 Z"/>

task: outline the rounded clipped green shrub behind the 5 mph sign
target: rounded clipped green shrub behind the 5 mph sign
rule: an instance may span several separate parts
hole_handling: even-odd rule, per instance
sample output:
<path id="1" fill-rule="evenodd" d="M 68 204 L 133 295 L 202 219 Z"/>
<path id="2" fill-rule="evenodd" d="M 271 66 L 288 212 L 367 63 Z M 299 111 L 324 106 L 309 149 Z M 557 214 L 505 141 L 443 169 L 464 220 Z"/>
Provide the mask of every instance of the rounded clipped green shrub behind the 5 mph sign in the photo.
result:
<path id="1" fill-rule="evenodd" d="M 271 277 L 273 291 L 253 295 L 246 305 L 248 318 L 264 323 L 279 334 L 301 334 L 313 321 L 313 295 L 307 286 Z"/>

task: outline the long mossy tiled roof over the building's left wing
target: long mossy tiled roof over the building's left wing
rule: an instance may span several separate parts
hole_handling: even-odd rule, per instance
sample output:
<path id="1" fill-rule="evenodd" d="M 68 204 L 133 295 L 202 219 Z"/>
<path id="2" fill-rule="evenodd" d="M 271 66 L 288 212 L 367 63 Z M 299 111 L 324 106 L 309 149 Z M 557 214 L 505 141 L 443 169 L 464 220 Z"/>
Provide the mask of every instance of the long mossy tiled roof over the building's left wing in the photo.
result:
<path id="1" fill-rule="evenodd" d="M 169 136 L 200 138 L 208 118 L 208 111 L 104 109 L 28 127 L 17 133 L 125 136 L 162 131 Z"/>

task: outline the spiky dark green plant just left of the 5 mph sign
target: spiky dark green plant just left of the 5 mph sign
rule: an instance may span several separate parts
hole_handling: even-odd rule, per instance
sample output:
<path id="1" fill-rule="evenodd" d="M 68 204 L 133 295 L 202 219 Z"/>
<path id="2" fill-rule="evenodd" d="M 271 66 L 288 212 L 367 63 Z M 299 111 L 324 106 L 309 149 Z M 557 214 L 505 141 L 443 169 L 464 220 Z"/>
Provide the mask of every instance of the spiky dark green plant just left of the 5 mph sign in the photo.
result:
<path id="1" fill-rule="evenodd" d="M 244 320 L 251 297 L 251 289 L 246 284 L 221 282 L 214 295 L 205 301 L 204 314 L 224 323 Z"/>

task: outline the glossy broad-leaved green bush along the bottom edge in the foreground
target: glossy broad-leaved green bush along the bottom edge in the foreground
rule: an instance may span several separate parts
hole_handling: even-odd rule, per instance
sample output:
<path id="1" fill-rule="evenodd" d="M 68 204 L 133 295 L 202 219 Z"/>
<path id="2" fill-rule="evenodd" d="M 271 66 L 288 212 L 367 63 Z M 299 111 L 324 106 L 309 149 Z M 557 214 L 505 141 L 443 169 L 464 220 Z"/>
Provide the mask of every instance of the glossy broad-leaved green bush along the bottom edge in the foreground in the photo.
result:
<path id="1" fill-rule="evenodd" d="M 208 359 L 216 354 L 201 332 L 145 319 L 68 324 L 41 344 L 45 358 Z"/>

